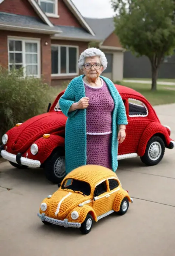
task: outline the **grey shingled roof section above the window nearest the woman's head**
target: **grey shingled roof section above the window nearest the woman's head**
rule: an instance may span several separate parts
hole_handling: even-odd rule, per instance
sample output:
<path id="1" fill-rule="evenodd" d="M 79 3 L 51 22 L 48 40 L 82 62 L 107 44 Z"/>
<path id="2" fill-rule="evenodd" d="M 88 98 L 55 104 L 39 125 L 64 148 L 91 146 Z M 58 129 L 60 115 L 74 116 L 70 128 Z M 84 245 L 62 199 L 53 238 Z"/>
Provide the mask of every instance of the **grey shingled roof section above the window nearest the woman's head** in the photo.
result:
<path id="1" fill-rule="evenodd" d="M 89 34 L 84 28 L 71 27 L 71 26 L 55 26 L 58 30 L 61 30 L 62 33 L 55 34 L 55 39 L 69 39 L 79 40 L 79 41 L 98 41 L 96 37 Z"/>

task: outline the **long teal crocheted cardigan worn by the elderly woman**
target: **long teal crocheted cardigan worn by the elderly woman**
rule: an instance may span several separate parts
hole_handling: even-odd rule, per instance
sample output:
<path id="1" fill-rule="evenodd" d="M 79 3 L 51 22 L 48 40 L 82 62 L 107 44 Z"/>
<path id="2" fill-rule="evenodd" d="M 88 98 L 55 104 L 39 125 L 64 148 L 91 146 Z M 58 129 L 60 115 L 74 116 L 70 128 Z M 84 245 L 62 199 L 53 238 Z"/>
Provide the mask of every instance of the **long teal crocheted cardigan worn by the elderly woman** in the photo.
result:
<path id="1" fill-rule="evenodd" d="M 86 109 L 77 109 L 68 112 L 71 105 L 85 97 L 85 86 L 83 76 L 80 75 L 69 83 L 64 95 L 59 99 L 59 106 L 65 116 L 68 117 L 65 129 L 65 168 L 66 173 L 73 169 L 86 165 Z M 114 100 L 114 110 L 112 114 L 112 169 L 117 170 L 118 161 L 118 125 L 128 124 L 126 110 L 119 92 L 110 79 L 100 76 L 111 93 Z"/>

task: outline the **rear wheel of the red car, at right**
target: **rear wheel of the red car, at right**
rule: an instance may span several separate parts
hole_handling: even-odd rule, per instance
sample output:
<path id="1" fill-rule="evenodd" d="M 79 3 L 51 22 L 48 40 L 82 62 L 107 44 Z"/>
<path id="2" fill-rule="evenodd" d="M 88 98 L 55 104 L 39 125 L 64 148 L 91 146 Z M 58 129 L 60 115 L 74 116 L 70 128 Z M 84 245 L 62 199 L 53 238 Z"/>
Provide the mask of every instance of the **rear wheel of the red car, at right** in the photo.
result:
<path id="1" fill-rule="evenodd" d="M 165 153 L 165 143 L 159 136 L 153 136 L 147 143 L 144 156 L 141 156 L 141 161 L 148 165 L 158 164 Z"/>

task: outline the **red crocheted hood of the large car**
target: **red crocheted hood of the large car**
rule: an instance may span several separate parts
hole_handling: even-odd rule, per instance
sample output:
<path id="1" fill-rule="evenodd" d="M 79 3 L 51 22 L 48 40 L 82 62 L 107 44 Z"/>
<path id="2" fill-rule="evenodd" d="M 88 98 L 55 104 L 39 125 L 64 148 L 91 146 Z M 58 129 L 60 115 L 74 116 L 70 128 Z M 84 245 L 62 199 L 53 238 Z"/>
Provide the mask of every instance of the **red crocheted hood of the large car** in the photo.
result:
<path id="1" fill-rule="evenodd" d="M 8 141 L 9 150 L 13 153 L 25 152 L 43 134 L 65 129 L 66 119 L 67 117 L 61 112 L 44 113 L 28 119 L 15 127 L 11 133 Z"/>

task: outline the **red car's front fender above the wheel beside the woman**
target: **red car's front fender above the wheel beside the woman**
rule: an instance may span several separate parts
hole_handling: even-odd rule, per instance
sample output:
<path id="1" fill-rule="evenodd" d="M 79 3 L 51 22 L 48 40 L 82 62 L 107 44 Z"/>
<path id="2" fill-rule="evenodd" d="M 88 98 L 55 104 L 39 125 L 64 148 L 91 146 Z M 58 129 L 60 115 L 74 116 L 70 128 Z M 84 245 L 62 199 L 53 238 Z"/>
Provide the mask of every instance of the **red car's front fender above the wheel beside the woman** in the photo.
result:
<path id="1" fill-rule="evenodd" d="M 24 157 L 28 157 L 33 160 L 39 160 L 42 163 L 51 155 L 52 151 L 56 149 L 56 147 L 64 148 L 64 138 L 59 135 L 53 135 L 47 139 L 41 137 L 38 140 L 35 140 L 33 144 L 37 144 L 38 153 L 33 155 L 30 151 L 30 148 L 25 152 Z"/>

